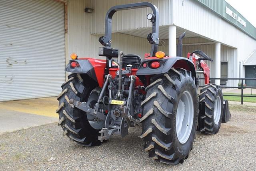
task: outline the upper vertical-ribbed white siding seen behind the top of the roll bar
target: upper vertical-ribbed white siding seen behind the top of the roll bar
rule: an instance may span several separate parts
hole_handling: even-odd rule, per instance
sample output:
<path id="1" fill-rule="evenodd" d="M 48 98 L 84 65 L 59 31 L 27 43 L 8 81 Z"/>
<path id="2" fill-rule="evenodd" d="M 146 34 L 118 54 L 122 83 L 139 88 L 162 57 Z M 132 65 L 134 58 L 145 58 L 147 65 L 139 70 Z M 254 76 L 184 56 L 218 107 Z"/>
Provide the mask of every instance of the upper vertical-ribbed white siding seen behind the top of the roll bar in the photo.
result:
<path id="1" fill-rule="evenodd" d="M 112 6 L 143 2 L 145 0 L 92 0 L 92 34 L 102 34 L 105 29 L 105 15 Z M 170 0 L 147 0 L 156 5 L 159 10 L 159 25 L 170 25 L 171 11 Z M 136 28 L 151 27 L 152 24 L 146 19 L 150 8 L 118 11 L 113 16 L 113 32 L 132 30 Z"/>

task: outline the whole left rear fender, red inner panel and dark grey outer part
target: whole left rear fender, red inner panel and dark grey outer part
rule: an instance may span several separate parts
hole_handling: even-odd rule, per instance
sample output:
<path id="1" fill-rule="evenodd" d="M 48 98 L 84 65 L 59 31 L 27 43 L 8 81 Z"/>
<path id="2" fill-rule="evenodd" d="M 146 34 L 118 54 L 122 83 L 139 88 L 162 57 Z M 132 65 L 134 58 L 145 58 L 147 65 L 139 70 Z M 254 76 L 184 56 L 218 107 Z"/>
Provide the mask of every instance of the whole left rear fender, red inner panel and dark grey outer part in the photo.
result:
<path id="1" fill-rule="evenodd" d="M 70 63 L 75 61 L 79 66 L 72 68 Z M 106 67 L 106 60 L 97 60 L 93 58 L 80 58 L 78 60 L 70 60 L 65 68 L 65 71 L 77 74 L 86 74 L 94 81 L 96 81 L 100 87 L 104 82 L 104 68 Z"/>

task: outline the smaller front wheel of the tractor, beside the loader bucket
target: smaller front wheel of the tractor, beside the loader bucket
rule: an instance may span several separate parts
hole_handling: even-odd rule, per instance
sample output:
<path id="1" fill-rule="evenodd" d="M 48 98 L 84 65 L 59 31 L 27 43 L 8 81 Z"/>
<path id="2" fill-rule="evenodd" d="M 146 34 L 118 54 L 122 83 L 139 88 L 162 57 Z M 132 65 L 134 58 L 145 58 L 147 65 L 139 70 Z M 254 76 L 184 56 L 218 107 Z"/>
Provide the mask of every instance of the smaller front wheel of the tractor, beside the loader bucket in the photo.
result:
<path id="1" fill-rule="evenodd" d="M 205 134 L 216 134 L 223 115 L 223 94 L 219 85 L 206 84 L 200 90 L 199 101 L 205 102 Z"/>

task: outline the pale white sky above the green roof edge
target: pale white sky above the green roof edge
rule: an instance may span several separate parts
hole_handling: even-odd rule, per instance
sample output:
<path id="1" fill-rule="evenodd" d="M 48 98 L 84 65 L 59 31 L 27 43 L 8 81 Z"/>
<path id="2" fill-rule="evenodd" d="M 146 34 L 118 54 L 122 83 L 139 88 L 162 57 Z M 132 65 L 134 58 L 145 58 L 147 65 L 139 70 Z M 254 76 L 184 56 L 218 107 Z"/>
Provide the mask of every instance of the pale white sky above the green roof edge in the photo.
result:
<path id="1" fill-rule="evenodd" d="M 256 0 L 225 0 L 256 27 Z"/>

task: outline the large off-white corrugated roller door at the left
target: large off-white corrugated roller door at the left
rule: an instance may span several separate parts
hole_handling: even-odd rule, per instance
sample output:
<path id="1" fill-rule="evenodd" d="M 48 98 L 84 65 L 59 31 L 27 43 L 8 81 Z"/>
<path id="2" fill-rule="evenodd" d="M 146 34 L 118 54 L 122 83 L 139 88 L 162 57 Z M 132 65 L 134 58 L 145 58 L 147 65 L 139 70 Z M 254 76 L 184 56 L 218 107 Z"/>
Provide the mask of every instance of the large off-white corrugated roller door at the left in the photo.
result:
<path id="1" fill-rule="evenodd" d="M 55 96 L 65 81 L 64 4 L 1 0 L 0 101 Z"/>

